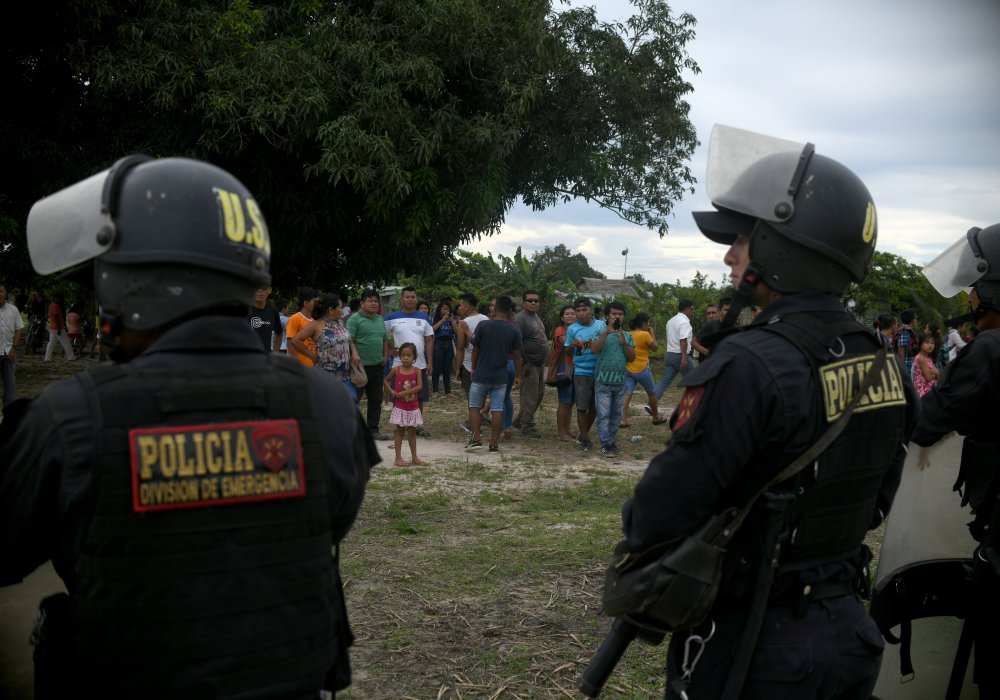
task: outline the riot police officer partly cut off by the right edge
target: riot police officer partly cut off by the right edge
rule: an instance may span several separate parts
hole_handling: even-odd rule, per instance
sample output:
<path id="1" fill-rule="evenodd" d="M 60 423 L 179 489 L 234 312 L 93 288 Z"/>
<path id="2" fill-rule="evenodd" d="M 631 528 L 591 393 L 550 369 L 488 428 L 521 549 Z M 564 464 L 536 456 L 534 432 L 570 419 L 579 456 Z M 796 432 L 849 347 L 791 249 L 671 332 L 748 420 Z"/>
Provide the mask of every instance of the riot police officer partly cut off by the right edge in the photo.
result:
<path id="1" fill-rule="evenodd" d="M 977 659 L 973 680 L 980 697 L 1000 698 L 1000 680 L 990 668 L 1000 658 L 1000 224 L 970 229 L 928 263 L 924 275 L 945 297 L 972 288 L 976 337 L 921 399 L 913 441 L 930 446 L 952 431 L 965 436 L 955 489 L 961 489 L 962 505 L 972 507 L 969 528 L 979 543 L 965 624 Z"/>

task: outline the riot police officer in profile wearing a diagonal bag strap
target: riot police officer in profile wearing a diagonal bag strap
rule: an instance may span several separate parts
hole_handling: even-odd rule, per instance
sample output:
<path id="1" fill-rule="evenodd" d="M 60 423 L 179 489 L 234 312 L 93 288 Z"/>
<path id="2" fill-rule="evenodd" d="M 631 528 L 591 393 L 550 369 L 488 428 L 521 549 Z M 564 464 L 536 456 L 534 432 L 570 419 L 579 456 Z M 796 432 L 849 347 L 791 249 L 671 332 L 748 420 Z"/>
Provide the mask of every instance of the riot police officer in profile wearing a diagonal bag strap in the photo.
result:
<path id="1" fill-rule="evenodd" d="M 707 187 L 717 211 L 695 220 L 730 246 L 741 304 L 763 310 L 682 382 L 667 449 L 622 511 L 633 552 L 746 505 L 843 414 L 881 348 L 840 300 L 875 250 L 875 208 L 856 175 L 811 144 L 717 125 Z M 839 437 L 778 485 L 792 500 L 776 542 L 763 541 L 761 509 L 744 521 L 708 619 L 671 638 L 668 698 L 870 696 L 882 639 L 857 595 L 870 557 L 862 540 L 892 503 L 916 395 L 887 358 L 862 396 Z M 751 608 L 763 620 L 745 634 Z"/>

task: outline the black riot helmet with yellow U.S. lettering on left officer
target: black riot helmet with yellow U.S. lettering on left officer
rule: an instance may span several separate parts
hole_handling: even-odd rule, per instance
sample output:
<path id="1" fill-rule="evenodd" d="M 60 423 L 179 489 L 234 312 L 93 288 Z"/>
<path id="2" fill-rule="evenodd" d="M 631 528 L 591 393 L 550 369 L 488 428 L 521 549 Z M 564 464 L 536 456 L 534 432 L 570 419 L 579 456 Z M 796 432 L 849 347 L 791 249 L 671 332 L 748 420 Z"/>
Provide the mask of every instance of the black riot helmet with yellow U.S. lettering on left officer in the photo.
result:
<path id="1" fill-rule="evenodd" d="M 209 309 L 245 310 L 271 283 L 257 202 L 225 170 L 188 158 L 122 158 L 36 202 L 27 236 L 40 274 L 93 265 L 113 335 Z"/>

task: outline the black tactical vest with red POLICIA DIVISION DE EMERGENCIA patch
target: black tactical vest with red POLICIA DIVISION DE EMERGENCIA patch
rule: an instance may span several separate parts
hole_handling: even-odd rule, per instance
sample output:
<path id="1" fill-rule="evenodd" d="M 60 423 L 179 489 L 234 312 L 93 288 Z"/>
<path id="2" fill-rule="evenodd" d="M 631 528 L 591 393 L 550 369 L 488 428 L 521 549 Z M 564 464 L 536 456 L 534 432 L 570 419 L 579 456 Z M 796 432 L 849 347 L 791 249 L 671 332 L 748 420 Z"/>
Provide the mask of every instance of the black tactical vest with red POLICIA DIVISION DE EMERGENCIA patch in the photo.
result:
<path id="1" fill-rule="evenodd" d="M 93 499 L 72 594 L 84 695 L 314 697 L 340 589 L 298 363 L 90 372 Z M 297 435 L 296 435 L 297 432 Z"/>

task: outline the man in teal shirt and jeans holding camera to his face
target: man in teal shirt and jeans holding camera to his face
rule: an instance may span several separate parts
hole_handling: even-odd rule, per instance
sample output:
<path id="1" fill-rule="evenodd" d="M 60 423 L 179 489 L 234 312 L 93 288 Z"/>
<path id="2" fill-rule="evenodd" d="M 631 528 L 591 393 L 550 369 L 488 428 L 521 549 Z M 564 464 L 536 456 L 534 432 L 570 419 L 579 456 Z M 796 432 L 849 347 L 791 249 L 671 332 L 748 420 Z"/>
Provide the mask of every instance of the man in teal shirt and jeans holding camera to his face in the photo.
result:
<path id="1" fill-rule="evenodd" d="M 615 438 L 625 407 L 625 377 L 628 374 L 625 367 L 635 359 L 635 341 L 631 333 L 622 330 L 625 307 L 620 301 L 608 304 L 605 317 L 608 325 L 590 344 L 590 351 L 597 355 L 594 368 L 597 437 L 601 440 L 601 454 L 614 457 L 618 454 Z"/>

